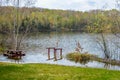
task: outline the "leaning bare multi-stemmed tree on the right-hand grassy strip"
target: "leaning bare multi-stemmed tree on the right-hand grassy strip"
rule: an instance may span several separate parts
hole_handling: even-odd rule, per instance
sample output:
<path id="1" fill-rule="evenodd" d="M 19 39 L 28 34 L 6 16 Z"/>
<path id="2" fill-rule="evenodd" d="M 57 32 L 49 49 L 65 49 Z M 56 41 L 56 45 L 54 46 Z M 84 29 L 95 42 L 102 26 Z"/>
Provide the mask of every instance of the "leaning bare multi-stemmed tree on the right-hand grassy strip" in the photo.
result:
<path id="1" fill-rule="evenodd" d="M 107 4 L 105 4 L 102 7 L 102 10 L 105 10 L 106 8 L 107 8 Z M 99 14 L 99 12 L 97 12 L 97 19 L 100 19 L 98 14 Z M 102 15 L 104 16 L 104 12 L 102 12 Z M 100 23 L 99 20 L 96 23 L 97 24 Z M 110 59 L 111 54 L 110 54 L 110 49 L 109 49 L 109 41 L 107 40 L 107 37 L 104 35 L 104 33 L 106 33 L 106 30 L 102 29 L 102 27 L 104 27 L 104 22 L 101 22 L 99 24 L 99 27 L 101 28 L 101 29 L 99 29 L 101 33 L 100 33 L 99 36 L 97 36 L 96 42 L 99 45 L 100 49 L 103 51 L 104 58 L 105 59 Z"/>

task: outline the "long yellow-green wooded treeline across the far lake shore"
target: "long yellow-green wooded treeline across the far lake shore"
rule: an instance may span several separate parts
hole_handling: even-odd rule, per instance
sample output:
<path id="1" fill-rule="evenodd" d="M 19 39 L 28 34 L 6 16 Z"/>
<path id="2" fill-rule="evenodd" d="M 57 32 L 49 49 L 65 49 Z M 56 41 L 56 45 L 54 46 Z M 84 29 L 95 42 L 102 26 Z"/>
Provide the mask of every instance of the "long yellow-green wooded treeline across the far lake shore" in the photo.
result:
<path id="1" fill-rule="evenodd" d="M 17 12 L 19 12 L 17 14 Z M 29 28 L 36 31 L 81 31 L 81 32 L 113 32 L 120 31 L 120 11 L 91 10 L 88 12 L 71 10 L 50 10 L 43 8 L 0 7 L 0 33 L 13 31 L 14 23 L 20 26 L 19 32 Z M 15 20 L 14 17 L 18 17 Z"/>

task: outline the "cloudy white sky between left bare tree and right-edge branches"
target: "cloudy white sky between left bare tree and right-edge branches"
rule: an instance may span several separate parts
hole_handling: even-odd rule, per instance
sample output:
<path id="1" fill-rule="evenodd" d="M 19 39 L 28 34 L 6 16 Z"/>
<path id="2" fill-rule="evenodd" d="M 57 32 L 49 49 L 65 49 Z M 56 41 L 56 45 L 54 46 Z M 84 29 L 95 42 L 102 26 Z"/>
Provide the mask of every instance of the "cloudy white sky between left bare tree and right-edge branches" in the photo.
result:
<path id="1" fill-rule="evenodd" d="M 35 6 L 48 9 L 89 11 L 114 9 L 116 0 L 37 0 Z"/>

